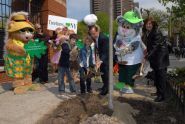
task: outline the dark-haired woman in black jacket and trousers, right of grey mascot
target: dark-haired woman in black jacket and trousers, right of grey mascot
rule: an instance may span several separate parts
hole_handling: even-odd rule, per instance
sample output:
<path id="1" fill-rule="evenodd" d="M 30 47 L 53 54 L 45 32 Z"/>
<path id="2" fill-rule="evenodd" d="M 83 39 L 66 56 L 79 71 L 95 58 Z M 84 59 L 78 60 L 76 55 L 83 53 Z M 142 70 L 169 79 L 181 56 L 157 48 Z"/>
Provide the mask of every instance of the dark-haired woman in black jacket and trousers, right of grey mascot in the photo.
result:
<path id="1" fill-rule="evenodd" d="M 169 66 L 169 53 L 161 31 L 153 18 L 144 21 L 143 41 L 147 46 L 147 58 L 151 68 L 154 70 L 154 83 L 157 89 L 155 102 L 165 99 L 165 84 L 167 79 L 167 67 Z"/>

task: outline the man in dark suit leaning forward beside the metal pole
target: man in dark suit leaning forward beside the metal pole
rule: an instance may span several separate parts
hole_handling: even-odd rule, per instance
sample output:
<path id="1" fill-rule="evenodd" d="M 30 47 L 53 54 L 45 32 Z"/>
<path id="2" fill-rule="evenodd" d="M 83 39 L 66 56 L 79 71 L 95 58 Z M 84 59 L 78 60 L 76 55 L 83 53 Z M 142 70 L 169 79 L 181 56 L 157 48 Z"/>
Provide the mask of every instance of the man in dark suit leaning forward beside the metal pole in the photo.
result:
<path id="1" fill-rule="evenodd" d="M 100 95 L 106 95 L 109 87 L 109 38 L 100 32 L 100 28 L 97 25 L 89 27 L 89 34 L 95 41 L 96 53 L 98 53 L 101 63 L 100 71 L 103 73 L 101 76 L 103 87 Z"/>

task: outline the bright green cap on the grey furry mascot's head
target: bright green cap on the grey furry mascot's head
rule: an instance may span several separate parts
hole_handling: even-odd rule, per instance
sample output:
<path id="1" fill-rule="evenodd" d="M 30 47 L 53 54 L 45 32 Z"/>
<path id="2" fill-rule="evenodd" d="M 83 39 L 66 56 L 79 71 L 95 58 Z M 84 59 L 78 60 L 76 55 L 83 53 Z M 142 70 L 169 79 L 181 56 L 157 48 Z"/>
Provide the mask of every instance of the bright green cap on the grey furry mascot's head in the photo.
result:
<path id="1" fill-rule="evenodd" d="M 127 20 L 128 22 L 130 22 L 132 24 L 136 24 L 136 23 L 143 21 L 143 19 L 138 18 L 136 13 L 134 13 L 133 11 L 126 12 L 123 15 L 123 19 Z"/>

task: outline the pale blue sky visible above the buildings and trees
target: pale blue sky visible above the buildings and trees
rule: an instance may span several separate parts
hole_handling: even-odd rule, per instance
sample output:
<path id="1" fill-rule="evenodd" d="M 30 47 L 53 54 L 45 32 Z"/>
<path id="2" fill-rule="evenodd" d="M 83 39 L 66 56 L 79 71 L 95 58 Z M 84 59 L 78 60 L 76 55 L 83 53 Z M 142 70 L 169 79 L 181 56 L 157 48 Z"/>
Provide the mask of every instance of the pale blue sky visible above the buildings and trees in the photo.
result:
<path id="1" fill-rule="evenodd" d="M 82 20 L 90 13 L 90 0 L 66 0 L 67 1 L 67 17 Z M 157 0 L 134 0 L 139 2 L 141 8 L 157 8 L 165 10 Z"/>

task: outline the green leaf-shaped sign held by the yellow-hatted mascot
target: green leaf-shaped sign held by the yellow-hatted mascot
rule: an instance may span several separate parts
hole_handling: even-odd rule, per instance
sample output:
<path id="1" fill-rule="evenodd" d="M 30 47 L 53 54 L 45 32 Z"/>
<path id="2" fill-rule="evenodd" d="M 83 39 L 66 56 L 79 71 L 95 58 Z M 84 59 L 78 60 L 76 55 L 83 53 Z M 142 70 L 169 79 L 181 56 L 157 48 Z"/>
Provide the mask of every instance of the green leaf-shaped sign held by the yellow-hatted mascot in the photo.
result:
<path id="1" fill-rule="evenodd" d="M 46 52 L 46 45 L 44 41 L 39 41 L 39 39 L 35 39 L 34 41 L 29 41 L 26 45 L 24 45 L 24 49 L 30 55 L 30 57 L 41 58 L 42 54 Z"/>

